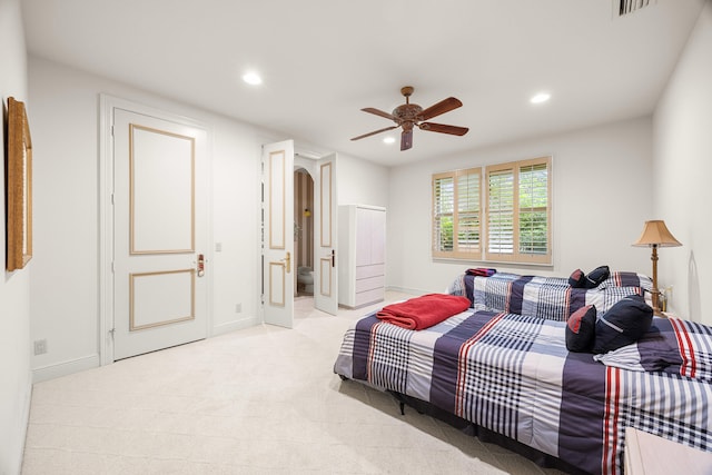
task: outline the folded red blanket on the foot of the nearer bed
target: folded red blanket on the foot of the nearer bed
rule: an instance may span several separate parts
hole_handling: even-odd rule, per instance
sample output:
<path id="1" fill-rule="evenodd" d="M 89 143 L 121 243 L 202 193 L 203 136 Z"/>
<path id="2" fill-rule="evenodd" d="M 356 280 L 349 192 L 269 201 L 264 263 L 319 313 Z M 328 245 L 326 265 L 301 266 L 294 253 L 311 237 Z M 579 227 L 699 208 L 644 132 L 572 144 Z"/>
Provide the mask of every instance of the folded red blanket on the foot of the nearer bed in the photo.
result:
<path id="1" fill-rule="evenodd" d="M 469 299 L 457 295 L 427 294 L 399 304 L 386 305 L 376 316 L 404 328 L 422 330 L 465 311 Z"/>

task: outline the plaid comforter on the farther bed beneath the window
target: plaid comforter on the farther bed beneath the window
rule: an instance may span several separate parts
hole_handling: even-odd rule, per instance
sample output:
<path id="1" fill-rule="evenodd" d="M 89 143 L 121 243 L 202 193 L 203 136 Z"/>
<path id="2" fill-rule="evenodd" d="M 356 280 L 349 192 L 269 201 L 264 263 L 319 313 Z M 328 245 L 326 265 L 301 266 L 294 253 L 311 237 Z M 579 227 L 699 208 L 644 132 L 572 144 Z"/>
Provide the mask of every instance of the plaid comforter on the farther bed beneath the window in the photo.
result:
<path id="1" fill-rule="evenodd" d="M 612 273 L 596 288 L 573 288 L 561 277 L 521 276 L 497 273 L 492 277 L 458 276 L 448 294 L 469 298 L 476 309 L 530 315 L 566 321 L 586 305 L 603 314 L 621 298 L 652 289 L 650 278 L 635 273 Z"/>

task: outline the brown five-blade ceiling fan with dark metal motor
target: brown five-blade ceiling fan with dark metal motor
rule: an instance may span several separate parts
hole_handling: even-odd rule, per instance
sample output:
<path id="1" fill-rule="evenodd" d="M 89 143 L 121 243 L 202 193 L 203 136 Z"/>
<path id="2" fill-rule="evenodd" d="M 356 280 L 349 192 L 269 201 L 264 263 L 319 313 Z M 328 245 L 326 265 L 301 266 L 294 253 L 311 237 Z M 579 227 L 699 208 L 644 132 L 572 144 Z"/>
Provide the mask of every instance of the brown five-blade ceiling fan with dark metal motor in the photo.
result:
<path id="1" fill-rule="evenodd" d="M 364 133 L 363 136 L 354 137 L 352 140 L 358 140 L 366 137 L 374 136 L 376 133 L 385 132 L 387 130 L 403 128 L 400 132 L 400 150 L 407 150 L 413 147 L 413 127 L 417 127 L 421 130 L 428 130 L 431 132 L 451 133 L 453 136 L 464 136 L 469 130 L 467 127 L 446 126 L 444 123 L 425 122 L 425 120 L 439 116 L 441 113 L 449 112 L 453 109 L 457 109 L 463 103 L 459 99 L 448 97 L 442 101 L 423 109 L 417 103 L 411 103 L 411 95 L 414 88 L 412 86 L 405 86 L 400 88 L 400 93 L 405 96 L 405 103 L 393 109 L 392 113 L 384 112 L 383 110 L 367 107 L 362 109 L 364 112 L 375 113 L 376 116 L 385 117 L 396 122 L 395 126 L 386 127 L 384 129 L 375 130 L 373 132 Z"/>

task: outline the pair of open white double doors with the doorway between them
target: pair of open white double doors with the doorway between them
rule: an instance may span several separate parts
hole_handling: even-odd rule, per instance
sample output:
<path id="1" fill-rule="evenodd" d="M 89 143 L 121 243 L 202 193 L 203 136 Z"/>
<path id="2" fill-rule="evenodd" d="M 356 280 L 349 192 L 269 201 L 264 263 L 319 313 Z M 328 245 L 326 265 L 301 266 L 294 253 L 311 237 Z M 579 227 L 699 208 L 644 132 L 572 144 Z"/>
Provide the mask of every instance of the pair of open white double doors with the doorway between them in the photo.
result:
<path id="1" fill-rule="evenodd" d="M 330 315 L 338 314 L 338 200 L 336 185 L 336 154 L 324 157 L 304 157 L 294 151 L 291 140 L 265 144 L 263 146 L 261 187 L 261 311 L 265 323 L 286 328 L 294 327 L 295 287 L 300 258 L 295 253 L 295 241 L 299 239 L 299 221 L 306 218 L 301 229 L 312 230 L 310 259 L 308 250 L 301 264 L 312 261 L 313 297 L 308 299 L 315 309 Z M 312 205 L 295 205 L 294 172 L 304 168 L 312 181 Z M 291 178 L 289 177 L 291 174 Z M 305 176 L 306 178 L 306 176 Z M 309 180 L 306 180 L 309 182 Z M 308 199 L 308 198 L 306 198 Z M 308 202 L 308 201 L 307 201 Z M 295 219 L 295 206 L 300 212 Z M 309 208 L 312 206 L 314 210 Z M 307 209 L 308 212 L 305 212 Z M 305 216 L 306 215 L 306 216 Z M 310 215 L 310 216 L 309 216 Z M 310 218 L 310 219 L 309 219 Z M 293 231 L 290 236 L 289 231 Z M 295 232 L 296 231 L 296 232 Z M 310 239 L 304 239 L 309 243 Z M 307 279 L 308 280 L 308 279 Z M 304 279 L 303 279 L 304 281 Z M 306 290 L 306 281 L 305 290 Z"/>

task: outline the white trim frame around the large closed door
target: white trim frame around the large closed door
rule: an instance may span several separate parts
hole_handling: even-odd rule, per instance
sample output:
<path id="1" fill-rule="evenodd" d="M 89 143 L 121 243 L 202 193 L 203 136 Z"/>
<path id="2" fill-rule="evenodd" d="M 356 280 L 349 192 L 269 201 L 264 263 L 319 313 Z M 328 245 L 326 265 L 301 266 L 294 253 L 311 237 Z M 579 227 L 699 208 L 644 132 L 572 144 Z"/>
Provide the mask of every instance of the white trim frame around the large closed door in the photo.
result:
<path id="1" fill-rule="evenodd" d="M 113 363 L 113 111 L 129 110 L 136 113 L 156 117 L 204 129 L 207 133 L 206 174 L 208 190 L 212 189 L 211 133 L 208 127 L 194 119 L 166 112 L 164 110 L 144 106 L 127 99 L 100 93 L 99 95 L 99 298 L 98 298 L 98 349 L 100 365 Z M 212 260 L 212 195 L 207 194 L 206 232 L 208 249 L 207 260 Z M 212 273 L 206 273 L 206 293 L 212 295 Z M 207 298 L 206 335 L 212 336 L 212 299 Z"/>

